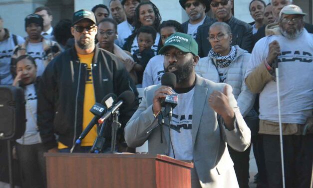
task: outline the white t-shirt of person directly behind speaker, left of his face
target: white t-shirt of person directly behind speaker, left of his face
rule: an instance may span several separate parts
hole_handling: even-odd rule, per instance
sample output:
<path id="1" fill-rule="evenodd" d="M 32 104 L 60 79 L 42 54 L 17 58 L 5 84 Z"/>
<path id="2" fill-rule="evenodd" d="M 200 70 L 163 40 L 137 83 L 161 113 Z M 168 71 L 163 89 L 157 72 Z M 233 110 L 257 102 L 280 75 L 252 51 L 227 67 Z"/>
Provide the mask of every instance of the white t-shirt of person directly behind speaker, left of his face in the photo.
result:
<path id="1" fill-rule="evenodd" d="M 161 77 L 164 74 L 164 55 L 152 57 L 144 72 L 142 78 L 142 87 L 161 83 Z"/>

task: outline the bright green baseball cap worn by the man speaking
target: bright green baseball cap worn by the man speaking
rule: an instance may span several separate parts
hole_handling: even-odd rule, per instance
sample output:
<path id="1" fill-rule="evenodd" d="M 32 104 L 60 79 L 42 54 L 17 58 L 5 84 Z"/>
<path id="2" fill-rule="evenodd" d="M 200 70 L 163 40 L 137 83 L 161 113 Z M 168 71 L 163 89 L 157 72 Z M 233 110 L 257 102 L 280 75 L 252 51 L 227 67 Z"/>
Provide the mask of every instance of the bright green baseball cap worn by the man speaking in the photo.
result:
<path id="1" fill-rule="evenodd" d="M 169 46 L 174 46 L 184 52 L 191 52 L 198 55 L 198 44 L 191 35 L 182 32 L 175 32 L 170 35 L 164 43 L 164 46 L 159 50 L 160 54 L 164 54 Z"/>

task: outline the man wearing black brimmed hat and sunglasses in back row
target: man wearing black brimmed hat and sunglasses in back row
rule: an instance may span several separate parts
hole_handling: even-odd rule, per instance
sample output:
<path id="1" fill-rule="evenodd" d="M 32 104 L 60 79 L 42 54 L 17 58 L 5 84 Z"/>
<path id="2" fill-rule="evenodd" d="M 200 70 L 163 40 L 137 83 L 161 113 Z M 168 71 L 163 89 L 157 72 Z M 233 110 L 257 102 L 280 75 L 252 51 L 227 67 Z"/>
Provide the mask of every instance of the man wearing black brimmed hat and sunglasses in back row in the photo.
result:
<path id="1" fill-rule="evenodd" d="M 179 0 L 179 3 L 189 16 L 189 19 L 182 23 L 183 31 L 196 39 L 198 27 L 213 20 L 206 15 L 210 10 L 211 0 Z"/>

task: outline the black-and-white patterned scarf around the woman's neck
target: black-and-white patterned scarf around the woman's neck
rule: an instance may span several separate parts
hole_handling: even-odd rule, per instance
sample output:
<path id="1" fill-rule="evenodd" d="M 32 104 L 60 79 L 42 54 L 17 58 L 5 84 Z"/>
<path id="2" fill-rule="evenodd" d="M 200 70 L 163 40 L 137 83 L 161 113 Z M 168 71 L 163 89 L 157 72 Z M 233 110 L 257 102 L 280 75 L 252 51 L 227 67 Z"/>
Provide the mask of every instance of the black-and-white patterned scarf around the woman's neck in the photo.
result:
<path id="1" fill-rule="evenodd" d="M 213 51 L 213 48 L 209 51 L 208 56 L 216 59 L 216 65 L 218 68 L 224 68 L 229 66 L 229 64 L 234 60 L 237 55 L 237 49 L 235 46 L 231 46 L 231 51 L 228 55 L 223 56 L 220 53 Z"/>

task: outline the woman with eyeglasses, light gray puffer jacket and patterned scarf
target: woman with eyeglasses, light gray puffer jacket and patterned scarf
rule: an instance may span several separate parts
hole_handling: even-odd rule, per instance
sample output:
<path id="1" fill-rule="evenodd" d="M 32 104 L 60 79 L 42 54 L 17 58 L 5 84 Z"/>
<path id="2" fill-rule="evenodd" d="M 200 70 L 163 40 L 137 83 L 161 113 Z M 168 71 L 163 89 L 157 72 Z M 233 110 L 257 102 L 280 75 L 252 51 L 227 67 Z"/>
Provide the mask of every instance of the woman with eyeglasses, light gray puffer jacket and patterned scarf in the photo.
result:
<path id="1" fill-rule="evenodd" d="M 209 51 L 208 56 L 199 60 L 195 70 L 204 78 L 215 82 L 228 83 L 233 87 L 233 94 L 238 102 L 241 114 L 249 126 L 258 121 L 256 112 L 251 110 L 255 95 L 245 84 L 246 69 L 251 54 L 238 45 L 230 45 L 232 38 L 231 27 L 227 23 L 213 23 L 210 26 L 208 37 L 212 49 Z M 240 187 L 249 187 L 250 149 L 251 146 L 246 151 L 239 152 L 228 147 Z"/>

